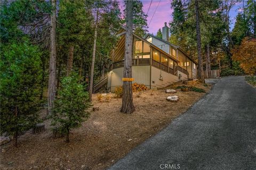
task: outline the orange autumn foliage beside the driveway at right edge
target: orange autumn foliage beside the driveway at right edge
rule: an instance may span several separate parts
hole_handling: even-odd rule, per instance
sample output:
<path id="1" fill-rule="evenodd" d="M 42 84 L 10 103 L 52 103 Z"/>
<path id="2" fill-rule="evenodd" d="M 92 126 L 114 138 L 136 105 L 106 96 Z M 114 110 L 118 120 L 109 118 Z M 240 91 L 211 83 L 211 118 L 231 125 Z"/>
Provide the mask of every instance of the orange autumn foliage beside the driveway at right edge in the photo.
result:
<path id="1" fill-rule="evenodd" d="M 240 66 L 247 74 L 256 74 L 256 39 L 245 37 L 241 45 L 232 51 L 233 59 L 240 63 Z"/>

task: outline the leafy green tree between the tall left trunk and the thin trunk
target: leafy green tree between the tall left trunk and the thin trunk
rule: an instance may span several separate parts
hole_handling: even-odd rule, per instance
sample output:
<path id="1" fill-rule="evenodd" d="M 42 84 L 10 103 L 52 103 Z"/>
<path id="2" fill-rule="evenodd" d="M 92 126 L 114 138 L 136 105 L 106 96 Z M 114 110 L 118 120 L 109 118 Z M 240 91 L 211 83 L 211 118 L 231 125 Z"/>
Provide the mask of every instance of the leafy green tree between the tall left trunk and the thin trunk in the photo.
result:
<path id="1" fill-rule="evenodd" d="M 85 40 L 86 30 L 91 29 L 90 15 L 86 10 L 85 1 L 70 1 L 63 0 L 59 3 L 58 22 L 60 23 L 57 33 L 59 36 L 59 45 L 61 48 L 68 50 L 62 50 L 62 53 L 67 53 L 67 71 L 66 75 L 69 75 L 73 69 L 74 52 L 79 48 L 82 41 Z"/>

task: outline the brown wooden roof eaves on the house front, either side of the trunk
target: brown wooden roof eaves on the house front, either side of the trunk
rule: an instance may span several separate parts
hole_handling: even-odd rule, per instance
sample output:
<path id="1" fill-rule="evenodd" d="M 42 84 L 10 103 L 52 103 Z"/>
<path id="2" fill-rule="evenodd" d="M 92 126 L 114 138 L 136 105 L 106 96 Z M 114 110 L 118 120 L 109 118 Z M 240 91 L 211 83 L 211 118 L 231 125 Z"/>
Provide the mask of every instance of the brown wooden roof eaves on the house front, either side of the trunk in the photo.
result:
<path id="1" fill-rule="evenodd" d="M 158 48 L 154 44 L 149 43 L 146 39 L 140 37 L 139 35 L 137 35 L 134 32 L 132 34 L 133 34 L 134 37 L 137 37 L 138 39 L 144 41 L 145 43 L 149 44 L 151 47 L 159 50 L 159 52 L 165 54 L 166 56 L 169 56 L 170 58 L 172 58 L 172 60 L 174 60 L 174 61 L 179 63 L 179 61 L 176 58 L 174 58 L 170 54 L 164 52 L 162 49 Z M 113 60 L 114 62 L 122 60 L 122 58 L 124 56 L 124 50 L 125 50 L 125 45 L 124 45 L 125 44 L 125 27 L 123 25 L 121 26 L 121 29 L 116 33 L 116 36 L 120 37 L 117 45 L 115 46 L 115 48 L 117 50 L 115 50 L 115 51 L 111 50 L 111 52 L 110 52 L 110 60 Z M 113 52 L 114 52 L 114 55 L 113 55 Z"/>

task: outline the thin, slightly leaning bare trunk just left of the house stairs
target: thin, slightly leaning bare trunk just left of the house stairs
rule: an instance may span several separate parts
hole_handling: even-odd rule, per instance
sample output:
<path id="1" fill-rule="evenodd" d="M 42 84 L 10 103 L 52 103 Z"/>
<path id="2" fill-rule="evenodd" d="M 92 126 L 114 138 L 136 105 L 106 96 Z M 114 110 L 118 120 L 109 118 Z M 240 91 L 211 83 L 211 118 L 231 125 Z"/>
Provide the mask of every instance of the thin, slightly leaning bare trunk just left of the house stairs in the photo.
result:
<path id="1" fill-rule="evenodd" d="M 89 88 L 90 101 L 92 101 L 93 72 L 94 72 L 94 62 L 95 62 L 96 43 L 97 43 L 98 17 L 99 17 L 99 10 L 97 10 L 95 30 L 94 30 L 94 43 L 93 43 L 91 77 L 90 77 L 90 88 Z"/>

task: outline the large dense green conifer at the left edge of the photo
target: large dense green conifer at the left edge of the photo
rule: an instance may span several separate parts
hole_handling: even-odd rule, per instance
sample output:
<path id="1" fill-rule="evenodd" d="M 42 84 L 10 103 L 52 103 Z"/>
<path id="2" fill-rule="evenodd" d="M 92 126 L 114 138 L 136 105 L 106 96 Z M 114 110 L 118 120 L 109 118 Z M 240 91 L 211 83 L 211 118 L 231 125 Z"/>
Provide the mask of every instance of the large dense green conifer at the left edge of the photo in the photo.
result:
<path id="1" fill-rule="evenodd" d="M 13 135 L 17 147 L 18 134 L 39 122 L 41 53 L 26 40 L 1 48 L 1 134 Z"/>

